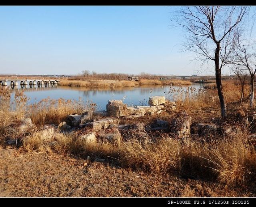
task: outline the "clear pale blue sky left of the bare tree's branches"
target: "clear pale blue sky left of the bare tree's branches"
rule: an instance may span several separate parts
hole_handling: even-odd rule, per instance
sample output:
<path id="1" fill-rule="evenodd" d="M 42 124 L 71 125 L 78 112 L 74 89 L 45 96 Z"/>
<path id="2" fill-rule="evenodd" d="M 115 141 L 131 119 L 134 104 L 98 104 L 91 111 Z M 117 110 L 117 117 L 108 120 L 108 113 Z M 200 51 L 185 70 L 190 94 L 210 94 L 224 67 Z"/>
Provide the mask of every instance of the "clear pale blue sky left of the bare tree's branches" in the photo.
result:
<path id="1" fill-rule="evenodd" d="M 170 6 L 0 6 L 0 74 L 192 75 Z M 204 72 L 206 74 L 206 72 Z M 208 72 L 210 74 L 210 72 Z"/>

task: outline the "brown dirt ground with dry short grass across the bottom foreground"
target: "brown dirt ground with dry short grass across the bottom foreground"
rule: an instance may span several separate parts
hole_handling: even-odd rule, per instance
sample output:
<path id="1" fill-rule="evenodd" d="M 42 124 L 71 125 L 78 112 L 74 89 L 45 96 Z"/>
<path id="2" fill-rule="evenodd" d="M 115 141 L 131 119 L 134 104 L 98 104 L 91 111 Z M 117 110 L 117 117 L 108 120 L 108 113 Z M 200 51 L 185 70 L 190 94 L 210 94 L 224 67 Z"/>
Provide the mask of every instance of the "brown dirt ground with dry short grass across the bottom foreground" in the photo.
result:
<path id="1" fill-rule="evenodd" d="M 228 187 L 168 174 L 124 169 L 115 161 L 0 147 L 0 197 L 255 197 L 256 188 Z"/>

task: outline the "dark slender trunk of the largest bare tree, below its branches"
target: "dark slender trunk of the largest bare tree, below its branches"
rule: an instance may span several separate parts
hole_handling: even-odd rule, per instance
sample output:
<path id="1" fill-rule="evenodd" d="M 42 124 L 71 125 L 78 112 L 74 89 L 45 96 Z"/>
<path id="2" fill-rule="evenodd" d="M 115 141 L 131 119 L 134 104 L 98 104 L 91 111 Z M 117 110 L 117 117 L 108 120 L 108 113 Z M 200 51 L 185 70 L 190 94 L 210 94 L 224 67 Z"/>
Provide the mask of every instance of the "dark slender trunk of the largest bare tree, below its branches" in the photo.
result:
<path id="1" fill-rule="evenodd" d="M 219 55 L 220 55 L 220 43 L 217 44 L 216 50 L 215 50 L 215 76 L 216 76 L 216 85 L 218 90 L 218 96 L 220 99 L 220 107 L 221 107 L 221 117 L 226 118 L 227 117 L 227 108 L 226 103 L 224 100 L 224 95 L 222 92 L 222 84 L 221 84 L 221 70 L 220 70 L 220 63 L 219 63 Z"/>

